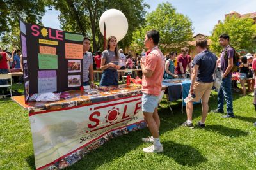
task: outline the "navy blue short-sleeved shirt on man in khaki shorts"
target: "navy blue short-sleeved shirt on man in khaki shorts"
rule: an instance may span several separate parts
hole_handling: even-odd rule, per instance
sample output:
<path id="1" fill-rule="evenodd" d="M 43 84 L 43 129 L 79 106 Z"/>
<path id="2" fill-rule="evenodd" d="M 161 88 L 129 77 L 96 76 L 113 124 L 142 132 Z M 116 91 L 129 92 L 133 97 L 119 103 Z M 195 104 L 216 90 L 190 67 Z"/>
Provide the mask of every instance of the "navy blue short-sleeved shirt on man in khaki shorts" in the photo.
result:
<path id="1" fill-rule="evenodd" d="M 213 73 L 216 67 L 217 57 L 214 53 L 206 50 L 195 56 L 192 64 L 199 66 L 196 81 L 202 83 L 213 82 Z"/>

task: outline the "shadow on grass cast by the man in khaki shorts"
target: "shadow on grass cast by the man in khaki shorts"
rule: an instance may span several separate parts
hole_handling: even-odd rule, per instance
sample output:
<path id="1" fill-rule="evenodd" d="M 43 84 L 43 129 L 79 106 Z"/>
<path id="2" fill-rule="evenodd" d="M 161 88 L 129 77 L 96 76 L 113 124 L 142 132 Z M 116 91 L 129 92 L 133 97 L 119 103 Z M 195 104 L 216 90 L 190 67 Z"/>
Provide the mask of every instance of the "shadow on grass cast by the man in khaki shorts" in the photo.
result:
<path id="1" fill-rule="evenodd" d="M 248 132 L 244 132 L 239 129 L 234 129 L 230 127 L 225 127 L 223 125 L 207 125 L 205 127 L 205 130 L 217 132 L 218 134 L 230 136 L 230 137 L 247 136 L 249 134 Z"/>

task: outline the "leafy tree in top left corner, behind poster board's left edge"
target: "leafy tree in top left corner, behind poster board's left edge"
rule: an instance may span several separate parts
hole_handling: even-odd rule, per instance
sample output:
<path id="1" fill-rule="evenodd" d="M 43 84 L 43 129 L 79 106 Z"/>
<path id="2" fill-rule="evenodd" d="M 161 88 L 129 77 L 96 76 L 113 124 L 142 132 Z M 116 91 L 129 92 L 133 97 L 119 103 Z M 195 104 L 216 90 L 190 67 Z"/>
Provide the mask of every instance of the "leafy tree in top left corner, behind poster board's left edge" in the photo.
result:
<path id="1" fill-rule="evenodd" d="M 0 38 L 5 48 L 20 47 L 19 18 L 42 25 L 45 0 L 0 0 Z"/>

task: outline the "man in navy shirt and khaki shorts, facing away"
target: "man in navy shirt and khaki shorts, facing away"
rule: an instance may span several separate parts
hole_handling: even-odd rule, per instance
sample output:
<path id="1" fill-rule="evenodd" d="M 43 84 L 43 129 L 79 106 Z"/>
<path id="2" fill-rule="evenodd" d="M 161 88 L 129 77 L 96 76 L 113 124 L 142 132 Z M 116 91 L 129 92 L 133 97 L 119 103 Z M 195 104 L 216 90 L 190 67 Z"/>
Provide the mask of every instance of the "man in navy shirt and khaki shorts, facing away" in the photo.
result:
<path id="1" fill-rule="evenodd" d="M 198 122 L 199 127 L 205 127 L 205 119 L 209 110 L 208 101 L 213 86 L 213 74 L 216 68 L 217 57 L 207 50 L 207 40 L 200 38 L 196 41 L 196 50 L 199 52 L 193 60 L 193 73 L 191 76 L 191 86 L 189 95 L 195 94 L 195 98 L 186 104 L 187 121 L 184 126 L 193 127 L 192 113 L 193 102 L 202 103 L 202 118 Z"/>

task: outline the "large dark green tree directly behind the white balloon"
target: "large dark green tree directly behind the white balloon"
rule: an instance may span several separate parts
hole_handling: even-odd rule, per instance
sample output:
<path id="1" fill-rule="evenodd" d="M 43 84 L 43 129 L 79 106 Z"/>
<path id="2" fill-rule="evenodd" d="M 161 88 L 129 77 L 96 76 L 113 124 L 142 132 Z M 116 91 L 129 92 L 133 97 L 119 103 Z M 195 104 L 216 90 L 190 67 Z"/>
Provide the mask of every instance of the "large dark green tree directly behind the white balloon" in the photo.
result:
<path id="1" fill-rule="evenodd" d="M 122 11 L 128 20 L 129 28 L 119 46 L 129 45 L 132 32 L 143 24 L 145 8 L 149 8 L 143 0 L 49 0 L 49 5 L 60 11 L 61 29 L 79 32 L 92 39 L 93 51 L 103 47 L 103 36 L 99 30 L 99 19 L 104 11 L 116 8 Z M 120 25 L 122 27 L 122 25 Z"/>

